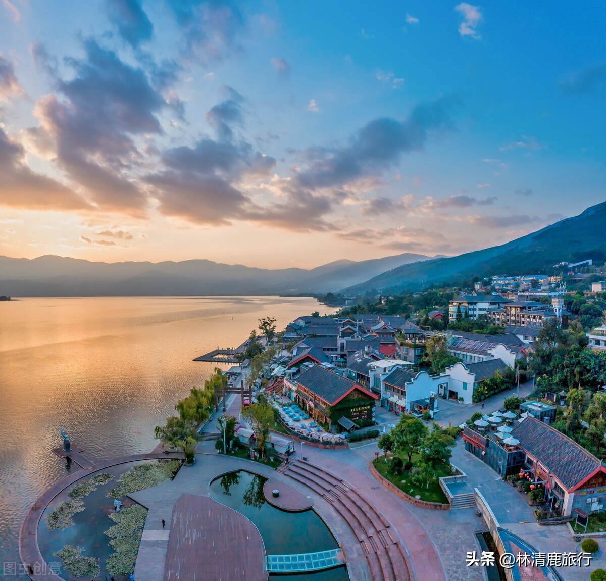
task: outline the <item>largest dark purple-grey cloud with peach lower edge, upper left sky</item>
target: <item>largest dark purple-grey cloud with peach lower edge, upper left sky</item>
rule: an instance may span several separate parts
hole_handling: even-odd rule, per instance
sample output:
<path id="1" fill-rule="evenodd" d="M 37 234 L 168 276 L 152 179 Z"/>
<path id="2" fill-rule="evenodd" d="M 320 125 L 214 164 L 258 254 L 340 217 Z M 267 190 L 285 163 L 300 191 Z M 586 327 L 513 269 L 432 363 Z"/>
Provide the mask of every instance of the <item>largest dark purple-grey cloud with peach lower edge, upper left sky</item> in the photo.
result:
<path id="1" fill-rule="evenodd" d="M 84 59 L 68 60 L 75 75 L 55 78 L 64 99 L 39 99 L 35 115 L 55 144 L 56 164 L 100 209 L 143 217 L 147 198 L 129 173 L 142 160 L 135 138 L 162 133 L 156 113 L 167 104 L 142 69 L 92 39 L 84 49 Z"/>

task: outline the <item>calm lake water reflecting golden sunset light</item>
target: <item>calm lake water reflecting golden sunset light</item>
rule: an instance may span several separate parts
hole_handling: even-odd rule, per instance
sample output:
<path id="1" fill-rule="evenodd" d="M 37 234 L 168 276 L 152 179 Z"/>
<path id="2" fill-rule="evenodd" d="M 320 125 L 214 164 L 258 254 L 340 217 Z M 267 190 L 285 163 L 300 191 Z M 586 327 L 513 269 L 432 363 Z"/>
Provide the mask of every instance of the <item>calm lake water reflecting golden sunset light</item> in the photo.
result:
<path id="1" fill-rule="evenodd" d="M 275 317 L 332 312 L 313 298 L 82 297 L 0 303 L 0 576 L 18 562 L 19 528 L 39 494 L 67 474 L 50 451 L 65 426 L 95 459 L 148 452 L 154 426 L 213 364 Z"/>

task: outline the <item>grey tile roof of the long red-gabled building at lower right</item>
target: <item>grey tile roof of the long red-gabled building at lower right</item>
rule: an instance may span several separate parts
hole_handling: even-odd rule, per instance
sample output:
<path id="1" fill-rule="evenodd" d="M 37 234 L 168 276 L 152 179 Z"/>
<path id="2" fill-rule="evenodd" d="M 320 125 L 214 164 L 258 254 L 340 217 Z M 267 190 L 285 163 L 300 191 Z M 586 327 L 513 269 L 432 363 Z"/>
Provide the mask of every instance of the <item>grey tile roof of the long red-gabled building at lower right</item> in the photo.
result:
<path id="1" fill-rule="evenodd" d="M 570 490 L 601 465 L 600 460 L 558 430 L 528 416 L 511 435 Z"/>

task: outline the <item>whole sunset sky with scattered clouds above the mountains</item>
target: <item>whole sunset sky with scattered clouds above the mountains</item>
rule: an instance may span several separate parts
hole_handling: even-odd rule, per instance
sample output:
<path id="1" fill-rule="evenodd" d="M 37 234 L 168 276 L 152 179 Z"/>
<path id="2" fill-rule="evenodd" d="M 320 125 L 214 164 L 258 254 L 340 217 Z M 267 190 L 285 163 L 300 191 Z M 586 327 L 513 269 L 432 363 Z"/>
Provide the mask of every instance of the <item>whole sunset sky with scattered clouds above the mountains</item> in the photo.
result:
<path id="1" fill-rule="evenodd" d="M 311 268 L 606 200 L 606 4 L 0 0 L 0 254 Z"/>

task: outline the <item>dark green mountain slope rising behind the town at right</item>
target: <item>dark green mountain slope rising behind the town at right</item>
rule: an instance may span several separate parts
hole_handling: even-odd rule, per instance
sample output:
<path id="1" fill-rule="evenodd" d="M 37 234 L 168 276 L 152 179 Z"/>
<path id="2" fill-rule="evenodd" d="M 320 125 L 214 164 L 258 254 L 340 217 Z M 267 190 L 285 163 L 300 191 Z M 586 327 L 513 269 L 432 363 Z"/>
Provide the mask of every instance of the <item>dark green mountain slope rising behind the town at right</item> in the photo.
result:
<path id="1" fill-rule="evenodd" d="M 606 202 L 501 246 L 451 258 L 404 264 L 344 290 L 398 292 L 488 275 L 543 274 L 554 264 L 606 260 Z"/>

